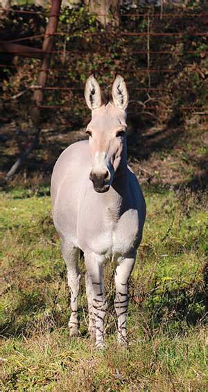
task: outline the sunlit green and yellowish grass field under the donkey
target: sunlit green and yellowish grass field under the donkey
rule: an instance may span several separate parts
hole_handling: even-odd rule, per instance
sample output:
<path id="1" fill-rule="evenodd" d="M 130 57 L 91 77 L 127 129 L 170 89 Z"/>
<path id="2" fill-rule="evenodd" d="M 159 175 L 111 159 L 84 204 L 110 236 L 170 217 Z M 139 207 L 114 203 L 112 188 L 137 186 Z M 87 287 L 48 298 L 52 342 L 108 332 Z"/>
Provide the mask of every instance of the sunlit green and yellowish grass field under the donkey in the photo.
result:
<path id="1" fill-rule="evenodd" d="M 49 189 L 1 192 L 1 391 L 206 391 L 205 196 L 144 189 L 148 216 L 130 280 L 128 350 L 116 344 L 107 266 L 106 348 L 69 339 L 66 270 Z M 84 267 L 81 266 L 82 271 Z"/>

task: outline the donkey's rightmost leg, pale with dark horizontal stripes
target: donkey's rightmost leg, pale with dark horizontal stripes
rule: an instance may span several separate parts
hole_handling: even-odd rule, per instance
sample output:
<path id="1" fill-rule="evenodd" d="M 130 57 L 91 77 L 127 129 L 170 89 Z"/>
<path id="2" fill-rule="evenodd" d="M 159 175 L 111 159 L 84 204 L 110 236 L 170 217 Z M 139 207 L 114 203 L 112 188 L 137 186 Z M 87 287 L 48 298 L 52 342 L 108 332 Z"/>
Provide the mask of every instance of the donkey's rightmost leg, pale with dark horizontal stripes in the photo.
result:
<path id="1" fill-rule="evenodd" d="M 118 316 L 118 341 L 126 343 L 126 316 L 128 309 L 128 280 L 135 265 L 135 257 L 119 260 L 116 268 L 116 298 L 114 307 Z"/>

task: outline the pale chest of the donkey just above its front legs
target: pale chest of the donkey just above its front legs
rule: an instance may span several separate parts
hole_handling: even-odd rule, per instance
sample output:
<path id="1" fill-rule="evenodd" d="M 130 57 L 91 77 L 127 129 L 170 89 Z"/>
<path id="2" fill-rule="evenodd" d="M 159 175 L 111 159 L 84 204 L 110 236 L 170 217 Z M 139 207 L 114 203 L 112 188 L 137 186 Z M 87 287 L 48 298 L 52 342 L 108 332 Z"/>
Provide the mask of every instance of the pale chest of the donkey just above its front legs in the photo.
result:
<path id="1" fill-rule="evenodd" d="M 90 248 L 98 255 L 106 257 L 127 254 L 137 243 L 139 236 L 139 219 L 136 209 L 128 209 L 120 213 L 114 207 L 106 207 L 102 211 L 86 214 L 79 232 L 80 247 Z"/>

